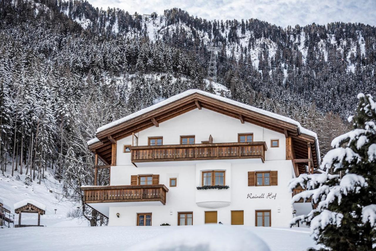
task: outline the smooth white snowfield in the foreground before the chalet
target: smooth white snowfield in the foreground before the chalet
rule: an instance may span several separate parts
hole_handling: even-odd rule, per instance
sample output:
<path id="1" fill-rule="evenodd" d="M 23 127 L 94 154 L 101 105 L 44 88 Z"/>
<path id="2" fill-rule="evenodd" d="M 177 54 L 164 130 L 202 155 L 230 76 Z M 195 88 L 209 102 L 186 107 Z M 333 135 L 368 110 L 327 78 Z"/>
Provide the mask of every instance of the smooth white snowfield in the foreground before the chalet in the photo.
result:
<path id="1" fill-rule="evenodd" d="M 7 251 L 172 251 L 177 243 L 185 245 L 179 250 L 205 251 L 299 251 L 315 246 L 308 228 L 230 225 L 8 228 L 0 230 L 0 243 Z"/>

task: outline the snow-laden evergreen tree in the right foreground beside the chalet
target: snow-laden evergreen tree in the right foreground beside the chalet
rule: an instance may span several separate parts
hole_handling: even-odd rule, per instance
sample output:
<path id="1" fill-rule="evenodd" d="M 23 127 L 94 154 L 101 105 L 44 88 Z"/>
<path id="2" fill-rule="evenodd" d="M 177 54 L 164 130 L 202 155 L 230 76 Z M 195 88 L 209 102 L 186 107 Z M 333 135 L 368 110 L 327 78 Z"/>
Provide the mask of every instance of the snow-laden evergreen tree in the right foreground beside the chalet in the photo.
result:
<path id="1" fill-rule="evenodd" d="M 322 250 L 373 250 L 376 247 L 376 103 L 358 95 L 358 114 L 350 116 L 353 130 L 332 141 L 321 174 L 301 174 L 290 189 L 302 186 L 293 201 L 312 198 L 317 208 L 297 216 Z M 334 175 L 329 174 L 333 170 Z M 340 173 L 344 176 L 340 178 Z"/>

